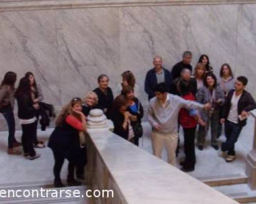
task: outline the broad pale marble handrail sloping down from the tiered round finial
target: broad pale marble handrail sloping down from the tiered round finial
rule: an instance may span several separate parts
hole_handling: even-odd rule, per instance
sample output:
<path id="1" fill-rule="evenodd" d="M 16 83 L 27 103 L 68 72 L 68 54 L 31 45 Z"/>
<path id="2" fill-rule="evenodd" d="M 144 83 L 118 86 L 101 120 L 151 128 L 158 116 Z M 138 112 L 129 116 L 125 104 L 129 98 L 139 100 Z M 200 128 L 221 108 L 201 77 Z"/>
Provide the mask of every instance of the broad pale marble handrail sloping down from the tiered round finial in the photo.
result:
<path id="1" fill-rule="evenodd" d="M 88 153 L 89 184 L 114 191 L 96 203 L 238 203 L 110 131 L 91 132 Z"/>

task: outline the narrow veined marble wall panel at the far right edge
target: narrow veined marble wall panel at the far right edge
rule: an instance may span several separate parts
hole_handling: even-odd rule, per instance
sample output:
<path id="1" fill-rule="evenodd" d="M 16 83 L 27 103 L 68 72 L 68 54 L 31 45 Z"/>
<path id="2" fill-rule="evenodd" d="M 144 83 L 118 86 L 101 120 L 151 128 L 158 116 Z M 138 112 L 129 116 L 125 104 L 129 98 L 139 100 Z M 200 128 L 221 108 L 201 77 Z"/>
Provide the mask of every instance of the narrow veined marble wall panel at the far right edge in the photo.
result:
<path id="1" fill-rule="evenodd" d="M 245 75 L 247 90 L 256 98 L 256 5 L 241 5 L 238 19 L 236 75 Z"/>

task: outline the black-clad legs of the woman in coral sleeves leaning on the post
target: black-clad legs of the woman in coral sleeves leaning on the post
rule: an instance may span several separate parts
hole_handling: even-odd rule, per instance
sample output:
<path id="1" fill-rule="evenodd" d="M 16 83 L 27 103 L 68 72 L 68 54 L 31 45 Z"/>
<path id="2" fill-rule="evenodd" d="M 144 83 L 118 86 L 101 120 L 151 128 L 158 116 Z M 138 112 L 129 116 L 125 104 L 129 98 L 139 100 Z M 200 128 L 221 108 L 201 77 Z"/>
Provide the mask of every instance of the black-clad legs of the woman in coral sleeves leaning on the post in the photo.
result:
<path id="1" fill-rule="evenodd" d="M 54 173 L 54 178 L 55 181 L 60 181 L 60 171 L 62 168 L 62 165 L 65 161 L 65 156 L 57 150 L 53 150 L 53 156 L 54 156 L 54 167 L 53 167 L 53 173 Z M 74 179 L 74 169 L 75 169 L 75 163 L 72 161 L 69 161 L 68 165 L 68 180 L 73 180 Z"/>

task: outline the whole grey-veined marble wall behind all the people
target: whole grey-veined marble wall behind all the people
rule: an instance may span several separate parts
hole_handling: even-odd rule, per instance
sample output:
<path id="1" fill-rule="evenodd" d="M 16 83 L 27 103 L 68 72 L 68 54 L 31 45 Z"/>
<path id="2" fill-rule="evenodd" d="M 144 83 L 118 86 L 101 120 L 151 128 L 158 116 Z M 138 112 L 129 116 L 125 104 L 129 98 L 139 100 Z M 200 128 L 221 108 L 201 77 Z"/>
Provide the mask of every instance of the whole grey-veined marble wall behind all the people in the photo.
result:
<path id="1" fill-rule="evenodd" d="M 171 69 L 184 50 L 208 54 L 215 72 L 230 63 L 256 97 L 256 5 L 182 5 L 0 12 L 0 74 L 32 71 L 45 101 L 83 97 L 106 73 L 113 89 L 127 69 L 144 94 L 155 55 Z"/>

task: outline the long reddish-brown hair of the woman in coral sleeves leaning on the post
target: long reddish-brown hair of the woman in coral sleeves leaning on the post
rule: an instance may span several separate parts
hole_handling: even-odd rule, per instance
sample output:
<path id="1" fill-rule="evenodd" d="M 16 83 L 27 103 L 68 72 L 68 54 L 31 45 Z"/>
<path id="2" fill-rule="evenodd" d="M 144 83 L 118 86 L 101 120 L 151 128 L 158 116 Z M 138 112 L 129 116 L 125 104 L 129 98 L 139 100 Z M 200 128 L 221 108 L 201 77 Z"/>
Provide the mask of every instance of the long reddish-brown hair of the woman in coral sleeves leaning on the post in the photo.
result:
<path id="1" fill-rule="evenodd" d="M 81 104 L 82 105 L 82 99 L 81 98 L 73 98 L 70 103 L 68 103 L 66 106 L 64 106 L 61 109 L 61 112 L 56 120 L 56 126 L 61 126 L 62 123 L 66 120 L 66 117 L 68 115 L 73 115 L 76 117 L 78 120 L 81 120 L 81 117 L 79 114 L 73 111 L 73 107 L 76 104 Z"/>

